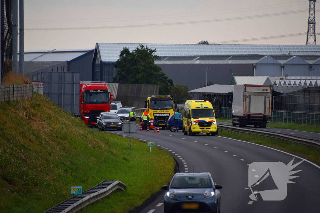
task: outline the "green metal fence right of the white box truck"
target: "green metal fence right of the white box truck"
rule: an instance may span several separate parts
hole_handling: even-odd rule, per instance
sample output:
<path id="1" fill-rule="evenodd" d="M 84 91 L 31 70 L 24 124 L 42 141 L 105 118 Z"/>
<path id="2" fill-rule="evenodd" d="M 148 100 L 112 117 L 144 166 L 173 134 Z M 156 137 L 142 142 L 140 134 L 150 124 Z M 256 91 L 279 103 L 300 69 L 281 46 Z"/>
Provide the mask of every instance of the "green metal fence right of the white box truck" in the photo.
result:
<path id="1" fill-rule="evenodd" d="M 306 112 L 271 111 L 270 123 L 320 126 L 320 114 Z"/>

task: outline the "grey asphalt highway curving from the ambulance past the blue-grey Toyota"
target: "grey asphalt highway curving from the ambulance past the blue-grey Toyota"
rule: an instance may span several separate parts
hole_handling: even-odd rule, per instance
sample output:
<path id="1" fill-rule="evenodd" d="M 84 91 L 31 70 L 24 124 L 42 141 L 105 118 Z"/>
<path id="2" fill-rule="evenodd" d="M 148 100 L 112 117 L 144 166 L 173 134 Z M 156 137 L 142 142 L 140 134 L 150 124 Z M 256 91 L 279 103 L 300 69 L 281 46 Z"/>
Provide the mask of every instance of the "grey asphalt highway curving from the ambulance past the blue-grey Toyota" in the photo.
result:
<path id="1" fill-rule="evenodd" d="M 108 132 L 122 134 L 121 131 Z M 253 162 L 282 162 L 287 165 L 293 158 L 293 164 L 296 164 L 303 158 L 274 148 L 219 135 L 189 136 L 182 132 L 173 133 L 169 130 L 153 133 L 152 131 L 139 131 L 137 128 L 137 134 L 133 134 L 132 138 L 143 142 L 154 142 L 158 148 L 167 150 L 178 162 L 180 172 L 210 172 L 216 183 L 223 186 L 220 189 L 222 213 L 319 212 L 320 166 L 308 161 L 308 159 L 292 169 L 292 171 L 302 170 L 293 175 L 298 176 L 297 178 L 290 179 L 284 175 L 285 181 L 290 179 L 296 182 L 284 185 L 284 188 L 287 188 L 284 200 L 264 201 L 258 197 L 257 201 L 253 201 L 249 198 L 252 193 L 248 184 L 249 172 L 251 176 L 254 175 L 254 171 L 249 167 L 250 164 Z M 134 151 L 134 147 L 132 147 L 132 151 Z M 146 151 L 149 151 L 147 145 Z M 286 171 L 286 168 L 284 167 L 282 170 Z M 159 171 L 159 175 L 161 175 L 161 171 Z M 277 176 L 275 173 L 272 175 L 273 177 Z M 260 179 L 261 175 L 260 177 L 255 175 L 255 178 Z M 268 183 L 261 182 L 259 187 L 259 191 L 268 190 Z M 163 212 L 163 196 L 164 193 L 140 212 Z"/>

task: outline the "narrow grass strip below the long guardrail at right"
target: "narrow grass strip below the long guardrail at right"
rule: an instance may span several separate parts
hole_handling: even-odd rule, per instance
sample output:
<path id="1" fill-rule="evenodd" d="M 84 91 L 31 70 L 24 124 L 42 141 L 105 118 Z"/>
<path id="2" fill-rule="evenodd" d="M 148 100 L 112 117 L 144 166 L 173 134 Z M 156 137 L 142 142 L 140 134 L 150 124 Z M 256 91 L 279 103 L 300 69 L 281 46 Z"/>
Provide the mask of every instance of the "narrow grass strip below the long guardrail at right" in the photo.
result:
<path id="1" fill-rule="evenodd" d="M 226 130 L 221 131 L 221 129 L 219 130 L 218 135 L 281 149 L 308 158 L 309 160 L 315 161 L 320 164 L 320 151 L 315 147 L 310 147 L 300 143 L 284 141 L 276 138 L 263 136 L 260 137 L 254 134 L 238 133 L 234 131 L 228 132 Z"/>

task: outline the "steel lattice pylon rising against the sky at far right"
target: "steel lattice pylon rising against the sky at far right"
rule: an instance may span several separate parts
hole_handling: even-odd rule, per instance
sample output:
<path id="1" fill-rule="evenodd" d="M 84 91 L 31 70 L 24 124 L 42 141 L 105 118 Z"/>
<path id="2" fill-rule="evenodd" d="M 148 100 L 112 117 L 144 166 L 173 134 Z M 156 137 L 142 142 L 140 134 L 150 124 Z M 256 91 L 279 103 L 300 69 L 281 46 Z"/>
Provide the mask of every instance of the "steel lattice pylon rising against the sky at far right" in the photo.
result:
<path id="1" fill-rule="evenodd" d="M 316 45 L 316 1 L 309 0 L 307 45 Z"/>

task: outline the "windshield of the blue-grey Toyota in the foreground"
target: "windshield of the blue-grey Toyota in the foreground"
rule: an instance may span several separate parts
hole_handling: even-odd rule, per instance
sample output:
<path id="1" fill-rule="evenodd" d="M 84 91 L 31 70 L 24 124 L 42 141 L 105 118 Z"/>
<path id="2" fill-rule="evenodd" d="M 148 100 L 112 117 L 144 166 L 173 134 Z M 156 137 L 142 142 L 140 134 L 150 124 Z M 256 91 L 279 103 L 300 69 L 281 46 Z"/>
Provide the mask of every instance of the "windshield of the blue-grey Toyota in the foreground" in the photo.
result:
<path id="1" fill-rule="evenodd" d="M 170 188 L 212 188 L 207 176 L 177 176 L 172 180 Z"/>

